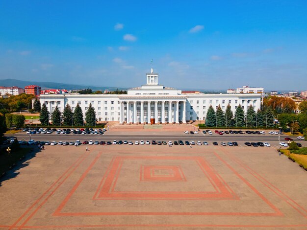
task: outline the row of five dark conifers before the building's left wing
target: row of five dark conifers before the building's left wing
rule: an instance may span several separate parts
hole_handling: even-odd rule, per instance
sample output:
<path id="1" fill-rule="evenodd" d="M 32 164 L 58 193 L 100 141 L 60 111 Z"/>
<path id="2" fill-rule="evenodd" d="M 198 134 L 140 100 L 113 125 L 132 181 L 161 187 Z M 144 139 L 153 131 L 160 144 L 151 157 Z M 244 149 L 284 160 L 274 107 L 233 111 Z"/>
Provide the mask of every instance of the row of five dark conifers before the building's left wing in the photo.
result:
<path id="1" fill-rule="evenodd" d="M 67 104 L 64 108 L 63 113 L 56 106 L 52 113 L 50 114 L 47 110 L 47 106 L 43 103 L 43 106 L 40 110 L 39 120 L 42 125 L 48 125 L 49 120 L 55 126 L 65 125 L 65 126 L 82 126 L 84 124 L 82 109 L 77 104 L 75 111 L 73 112 L 70 105 Z M 89 104 L 89 107 L 85 113 L 85 122 L 88 126 L 94 126 L 96 124 L 96 112 L 92 104 Z"/>

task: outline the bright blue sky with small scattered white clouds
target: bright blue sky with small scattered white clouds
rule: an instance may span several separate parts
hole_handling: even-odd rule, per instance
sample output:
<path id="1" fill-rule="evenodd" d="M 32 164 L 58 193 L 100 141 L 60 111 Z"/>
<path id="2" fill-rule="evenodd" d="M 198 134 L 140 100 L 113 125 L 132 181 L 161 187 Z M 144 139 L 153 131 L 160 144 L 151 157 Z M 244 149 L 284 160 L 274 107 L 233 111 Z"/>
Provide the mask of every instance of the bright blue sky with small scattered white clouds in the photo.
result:
<path id="1" fill-rule="evenodd" d="M 305 0 L 0 0 L 0 79 L 307 90 Z"/>

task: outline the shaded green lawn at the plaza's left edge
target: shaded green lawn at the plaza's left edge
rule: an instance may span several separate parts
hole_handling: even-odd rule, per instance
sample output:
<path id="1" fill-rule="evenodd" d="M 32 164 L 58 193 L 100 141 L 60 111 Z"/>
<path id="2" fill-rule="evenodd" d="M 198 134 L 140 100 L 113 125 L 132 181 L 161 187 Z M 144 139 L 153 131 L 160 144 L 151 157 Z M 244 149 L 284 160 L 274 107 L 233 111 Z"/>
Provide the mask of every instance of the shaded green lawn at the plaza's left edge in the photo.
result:
<path id="1" fill-rule="evenodd" d="M 0 154 L 0 175 L 9 170 L 9 167 L 17 163 L 23 156 L 31 152 L 31 148 L 20 148 L 17 151 L 12 151 L 9 155 L 5 151 Z"/>

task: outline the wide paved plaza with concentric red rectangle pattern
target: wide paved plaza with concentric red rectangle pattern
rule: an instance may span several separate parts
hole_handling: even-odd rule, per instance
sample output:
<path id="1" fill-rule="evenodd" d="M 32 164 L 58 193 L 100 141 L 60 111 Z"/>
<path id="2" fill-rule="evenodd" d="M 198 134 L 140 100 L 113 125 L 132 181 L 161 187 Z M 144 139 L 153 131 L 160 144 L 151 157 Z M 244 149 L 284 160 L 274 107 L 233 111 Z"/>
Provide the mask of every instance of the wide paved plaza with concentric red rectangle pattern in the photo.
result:
<path id="1" fill-rule="evenodd" d="M 307 229 L 307 172 L 274 148 L 88 149 L 46 146 L 10 172 L 0 228 Z"/>

